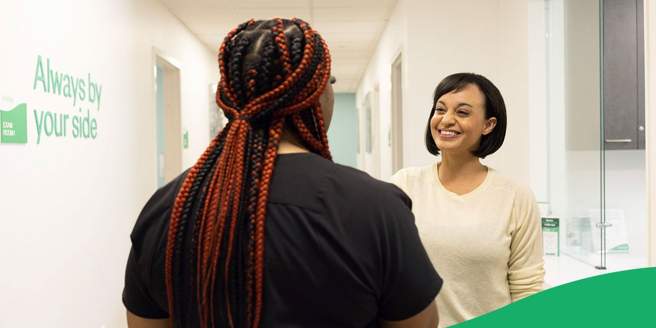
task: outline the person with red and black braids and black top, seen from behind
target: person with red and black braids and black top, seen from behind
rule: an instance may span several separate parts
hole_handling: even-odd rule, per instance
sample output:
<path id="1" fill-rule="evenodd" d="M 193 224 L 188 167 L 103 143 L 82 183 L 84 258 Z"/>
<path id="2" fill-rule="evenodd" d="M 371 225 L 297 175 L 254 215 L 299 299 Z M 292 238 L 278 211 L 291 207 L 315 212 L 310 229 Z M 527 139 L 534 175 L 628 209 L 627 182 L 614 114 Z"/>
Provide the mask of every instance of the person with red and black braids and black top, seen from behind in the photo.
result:
<path id="1" fill-rule="evenodd" d="M 435 327 L 442 281 L 409 198 L 331 161 L 321 36 L 251 20 L 218 64 L 229 122 L 136 221 L 129 327 Z"/>

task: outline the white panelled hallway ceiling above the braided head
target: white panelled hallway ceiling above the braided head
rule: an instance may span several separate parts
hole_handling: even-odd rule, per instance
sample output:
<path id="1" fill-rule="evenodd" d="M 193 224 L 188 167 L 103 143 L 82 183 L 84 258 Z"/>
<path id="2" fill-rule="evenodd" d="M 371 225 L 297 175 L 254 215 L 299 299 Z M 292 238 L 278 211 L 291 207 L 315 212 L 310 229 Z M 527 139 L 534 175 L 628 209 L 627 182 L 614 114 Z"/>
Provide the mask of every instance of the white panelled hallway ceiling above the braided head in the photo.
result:
<path id="1" fill-rule="evenodd" d="M 302 18 L 331 52 L 335 92 L 356 92 L 397 0 L 159 0 L 218 54 L 223 38 L 251 18 Z"/>

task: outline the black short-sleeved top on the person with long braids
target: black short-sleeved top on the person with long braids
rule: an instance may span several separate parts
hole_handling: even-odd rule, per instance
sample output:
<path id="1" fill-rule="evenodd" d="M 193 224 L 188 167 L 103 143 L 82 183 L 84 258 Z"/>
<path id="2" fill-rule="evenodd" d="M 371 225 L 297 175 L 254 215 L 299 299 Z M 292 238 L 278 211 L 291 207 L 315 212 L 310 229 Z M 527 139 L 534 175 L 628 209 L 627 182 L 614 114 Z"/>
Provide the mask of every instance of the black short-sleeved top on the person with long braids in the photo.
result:
<path id="1" fill-rule="evenodd" d="M 168 318 L 164 258 L 186 173 L 146 203 L 134 226 L 123 304 Z M 261 327 L 377 327 L 426 308 L 442 280 L 399 188 L 311 154 L 281 154 L 270 186 Z M 188 263 L 188 258 L 182 263 Z"/>

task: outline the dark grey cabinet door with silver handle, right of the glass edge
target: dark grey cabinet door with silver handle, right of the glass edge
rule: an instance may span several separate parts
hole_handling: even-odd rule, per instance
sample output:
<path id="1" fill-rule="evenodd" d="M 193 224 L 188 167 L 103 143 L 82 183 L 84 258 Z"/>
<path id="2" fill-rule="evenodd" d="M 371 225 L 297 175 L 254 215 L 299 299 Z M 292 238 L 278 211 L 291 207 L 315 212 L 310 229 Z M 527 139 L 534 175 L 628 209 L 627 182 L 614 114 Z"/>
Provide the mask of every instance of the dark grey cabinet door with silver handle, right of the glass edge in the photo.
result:
<path id="1" fill-rule="evenodd" d="M 644 7 L 604 0 L 604 147 L 645 149 Z"/>

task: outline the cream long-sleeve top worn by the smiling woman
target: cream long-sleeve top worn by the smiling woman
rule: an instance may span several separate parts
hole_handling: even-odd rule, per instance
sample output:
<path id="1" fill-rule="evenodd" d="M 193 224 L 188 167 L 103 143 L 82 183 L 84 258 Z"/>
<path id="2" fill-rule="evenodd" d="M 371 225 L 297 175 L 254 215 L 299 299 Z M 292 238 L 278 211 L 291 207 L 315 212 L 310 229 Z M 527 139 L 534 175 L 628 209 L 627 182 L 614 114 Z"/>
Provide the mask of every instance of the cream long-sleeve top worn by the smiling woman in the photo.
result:
<path id="1" fill-rule="evenodd" d="M 488 167 L 468 194 L 444 188 L 437 163 L 392 176 L 412 199 L 415 224 L 444 279 L 440 326 L 482 316 L 542 290 L 541 217 L 533 192 Z"/>

